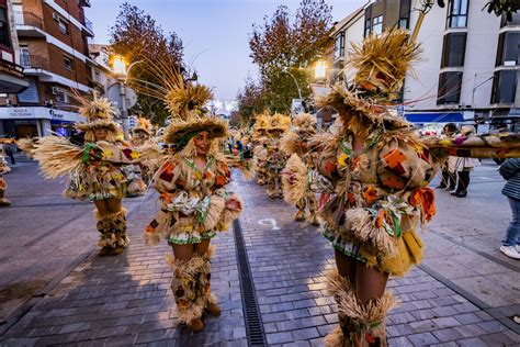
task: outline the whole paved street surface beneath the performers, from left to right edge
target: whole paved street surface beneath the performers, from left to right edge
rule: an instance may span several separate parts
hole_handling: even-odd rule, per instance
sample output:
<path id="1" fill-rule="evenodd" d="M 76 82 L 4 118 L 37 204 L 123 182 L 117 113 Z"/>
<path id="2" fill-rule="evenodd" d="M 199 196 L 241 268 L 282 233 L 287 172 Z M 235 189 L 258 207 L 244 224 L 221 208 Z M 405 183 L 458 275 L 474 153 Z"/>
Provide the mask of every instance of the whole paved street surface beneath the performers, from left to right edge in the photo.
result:
<path id="1" fill-rule="evenodd" d="M 12 205 L 0 210 L 2 344 L 242 346 L 256 336 L 268 345 L 320 346 L 337 324 L 325 293 L 330 245 L 256 182 L 236 177 L 231 184 L 246 211 L 213 242 L 212 287 L 223 314 L 206 317 L 194 335 L 176 326 L 163 260 L 171 250 L 140 239 L 156 194 L 124 201 L 132 244 L 120 257 L 100 258 L 92 205 L 61 198 L 61 182 L 43 180 L 34 161 L 19 159 L 5 176 Z M 392 346 L 520 343 L 511 320 L 520 313 L 520 264 L 498 250 L 510 211 L 496 169 L 493 161 L 476 168 L 466 199 L 438 191 L 438 214 L 421 234 L 425 261 L 388 284 L 402 301 L 387 317 Z M 244 296 L 248 280 L 252 300 Z"/>

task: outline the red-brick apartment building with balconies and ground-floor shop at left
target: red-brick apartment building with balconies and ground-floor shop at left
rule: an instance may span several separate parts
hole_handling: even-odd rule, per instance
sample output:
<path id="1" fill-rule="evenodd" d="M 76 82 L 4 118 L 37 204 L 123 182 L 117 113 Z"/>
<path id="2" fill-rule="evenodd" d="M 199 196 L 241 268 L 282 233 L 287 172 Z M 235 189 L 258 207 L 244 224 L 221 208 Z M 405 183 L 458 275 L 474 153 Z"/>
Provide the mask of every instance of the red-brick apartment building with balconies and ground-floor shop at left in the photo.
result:
<path id="1" fill-rule="evenodd" d="M 89 0 L 12 0 L 16 52 L 29 87 L 0 99 L 0 133 L 45 136 L 80 121 L 75 94 L 95 86 L 84 16 Z"/>

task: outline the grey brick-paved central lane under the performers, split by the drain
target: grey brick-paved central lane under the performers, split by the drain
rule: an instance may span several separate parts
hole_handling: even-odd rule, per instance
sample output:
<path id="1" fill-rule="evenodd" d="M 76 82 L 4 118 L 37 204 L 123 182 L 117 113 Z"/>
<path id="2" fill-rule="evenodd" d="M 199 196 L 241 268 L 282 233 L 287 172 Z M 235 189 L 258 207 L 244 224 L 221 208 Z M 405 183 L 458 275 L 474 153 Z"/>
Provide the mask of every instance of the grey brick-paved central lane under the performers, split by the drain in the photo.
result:
<path id="1" fill-rule="evenodd" d="M 264 188 L 236 181 L 246 211 L 240 217 L 256 299 L 269 345 L 321 346 L 336 325 L 336 305 L 325 294 L 334 268 L 332 248 L 316 227 L 293 222 L 294 209 L 269 200 Z M 176 327 L 166 243 L 144 246 L 140 234 L 157 211 L 156 195 L 132 200 L 132 245 L 120 257 L 92 253 L 0 337 L 5 345 L 145 344 L 246 346 L 246 320 L 233 231 L 214 239 L 212 287 L 223 314 L 205 317 L 201 334 Z M 140 198 L 138 198 L 140 199 Z M 402 305 L 388 315 L 391 346 L 518 345 L 520 337 L 464 295 L 431 276 L 431 265 L 388 287 Z M 515 272 L 518 277 L 518 272 Z M 433 273 L 436 275 L 436 273 Z M 513 279 L 511 279 L 512 281 Z M 445 281 L 444 281 L 445 282 Z M 517 281 L 518 282 L 518 281 Z M 445 282 L 450 284 L 450 282 Z M 246 310 L 250 314 L 249 309 Z M 518 312 L 517 312 L 518 313 Z"/>

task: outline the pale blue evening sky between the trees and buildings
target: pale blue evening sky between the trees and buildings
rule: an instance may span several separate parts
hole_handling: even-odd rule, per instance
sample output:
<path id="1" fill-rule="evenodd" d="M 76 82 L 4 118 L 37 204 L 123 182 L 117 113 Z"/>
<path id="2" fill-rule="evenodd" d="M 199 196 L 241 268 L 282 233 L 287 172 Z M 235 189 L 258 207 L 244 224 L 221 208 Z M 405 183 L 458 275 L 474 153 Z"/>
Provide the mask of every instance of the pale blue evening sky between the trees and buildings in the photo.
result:
<path id="1" fill-rule="evenodd" d="M 109 42 L 124 0 L 91 0 L 86 15 L 94 26 L 94 43 Z M 299 0 L 127 0 L 148 12 L 165 32 L 176 32 L 184 44 L 184 60 L 199 80 L 213 88 L 216 99 L 236 98 L 257 69 L 249 57 L 248 37 L 253 23 L 262 23 L 280 4 L 294 12 Z M 340 21 L 365 0 L 328 0 L 334 21 Z"/>

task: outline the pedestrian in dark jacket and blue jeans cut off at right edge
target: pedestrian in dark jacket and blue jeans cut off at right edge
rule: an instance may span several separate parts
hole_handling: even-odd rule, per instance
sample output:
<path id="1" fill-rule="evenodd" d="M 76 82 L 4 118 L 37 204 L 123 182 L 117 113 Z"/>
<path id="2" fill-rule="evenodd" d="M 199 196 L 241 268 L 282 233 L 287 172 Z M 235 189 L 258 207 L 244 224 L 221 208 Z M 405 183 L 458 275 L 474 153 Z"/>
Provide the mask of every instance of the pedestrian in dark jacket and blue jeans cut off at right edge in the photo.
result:
<path id="1" fill-rule="evenodd" d="M 520 158 L 507 159 L 498 171 L 507 180 L 502 194 L 507 197 L 512 213 L 500 251 L 509 258 L 520 259 Z"/>

